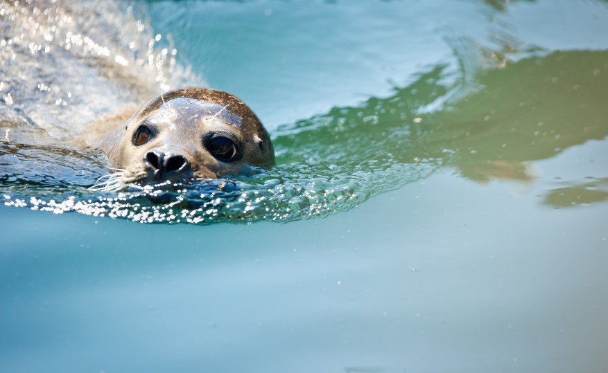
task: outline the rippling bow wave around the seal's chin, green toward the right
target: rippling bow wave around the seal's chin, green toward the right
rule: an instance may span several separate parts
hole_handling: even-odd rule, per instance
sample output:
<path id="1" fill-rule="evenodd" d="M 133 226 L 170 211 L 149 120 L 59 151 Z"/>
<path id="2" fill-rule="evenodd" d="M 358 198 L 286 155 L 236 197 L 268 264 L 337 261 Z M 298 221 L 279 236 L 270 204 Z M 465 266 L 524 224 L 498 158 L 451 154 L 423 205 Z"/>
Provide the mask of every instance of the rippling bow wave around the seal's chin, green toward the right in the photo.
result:
<path id="1" fill-rule="evenodd" d="M 5 144 L 0 147 L 3 203 L 55 213 L 193 224 L 292 221 L 349 210 L 442 167 L 413 140 L 418 133 L 416 108 L 446 91 L 436 85 L 441 75 L 438 68 L 390 98 L 370 99 L 359 107 L 334 109 L 281 127 L 273 139 L 278 165 L 254 176 L 95 192 L 89 188 L 109 168 L 102 156 Z M 410 92 L 414 87 L 417 94 Z"/>

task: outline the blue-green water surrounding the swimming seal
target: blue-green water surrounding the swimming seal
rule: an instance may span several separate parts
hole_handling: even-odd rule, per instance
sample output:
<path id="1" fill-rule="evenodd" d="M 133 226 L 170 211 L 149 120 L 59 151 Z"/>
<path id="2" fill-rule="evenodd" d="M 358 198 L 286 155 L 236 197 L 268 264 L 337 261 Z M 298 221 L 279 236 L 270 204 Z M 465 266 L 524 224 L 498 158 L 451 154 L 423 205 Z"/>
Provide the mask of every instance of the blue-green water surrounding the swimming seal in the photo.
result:
<path id="1" fill-rule="evenodd" d="M 605 369 L 606 2 L 107 7 L 135 31 L 101 45 L 161 56 L 135 91 L 231 91 L 278 166 L 221 195 L 90 192 L 103 157 L 47 139 L 74 119 L 11 75 L 42 128 L 3 107 L 2 371 Z"/>

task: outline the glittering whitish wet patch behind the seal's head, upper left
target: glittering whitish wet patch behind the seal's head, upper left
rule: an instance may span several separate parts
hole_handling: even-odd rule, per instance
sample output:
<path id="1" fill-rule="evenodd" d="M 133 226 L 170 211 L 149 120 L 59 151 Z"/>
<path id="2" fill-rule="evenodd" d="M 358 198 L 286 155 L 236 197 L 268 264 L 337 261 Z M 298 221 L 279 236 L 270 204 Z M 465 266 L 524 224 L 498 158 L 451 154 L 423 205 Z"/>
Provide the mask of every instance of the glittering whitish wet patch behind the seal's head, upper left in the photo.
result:
<path id="1" fill-rule="evenodd" d="M 117 1 L 3 1 L 0 28 L 0 120 L 35 124 L 58 143 L 159 89 L 205 84 Z"/>

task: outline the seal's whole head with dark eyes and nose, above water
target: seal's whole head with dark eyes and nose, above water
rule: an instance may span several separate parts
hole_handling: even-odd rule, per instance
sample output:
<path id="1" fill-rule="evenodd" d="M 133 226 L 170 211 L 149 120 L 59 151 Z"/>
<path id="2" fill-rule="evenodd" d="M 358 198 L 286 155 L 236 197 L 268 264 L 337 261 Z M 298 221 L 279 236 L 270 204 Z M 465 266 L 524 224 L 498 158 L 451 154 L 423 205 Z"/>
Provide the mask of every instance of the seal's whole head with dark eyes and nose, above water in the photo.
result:
<path id="1" fill-rule="evenodd" d="M 101 143 L 122 184 L 215 179 L 275 164 L 268 132 L 229 93 L 186 88 L 150 100 Z"/>

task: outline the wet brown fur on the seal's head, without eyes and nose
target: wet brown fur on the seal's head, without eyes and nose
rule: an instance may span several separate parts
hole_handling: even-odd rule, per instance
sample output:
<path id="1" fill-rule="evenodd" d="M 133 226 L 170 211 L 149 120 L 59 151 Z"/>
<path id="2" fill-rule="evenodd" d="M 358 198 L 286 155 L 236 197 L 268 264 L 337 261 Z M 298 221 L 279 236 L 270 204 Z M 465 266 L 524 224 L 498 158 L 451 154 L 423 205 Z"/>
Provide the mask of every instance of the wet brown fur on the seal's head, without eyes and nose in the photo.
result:
<path id="1" fill-rule="evenodd" d="M 179 101 L 181 106 L 180 104 L 172 105 L 173 100 L 177 99 L 181 99 Z M 195 104 L 190 105 L 188 104 L 189 101 L 186 100 L 184 105 L 184 99 L 193 100 L 192 102 Z M 196 117 L 186 116 L 187 110 L 197 109 L 196 104 L 218 105 L 221 109 L 212 116 L 209 113 L 205 114 L 207 116 L 202 113 L 199 113 L 200 116 Z M 185 113 L 182 112 L 183 110 L 180 111 L 184 107 L 186 108 Z M 173 134 L 173 138 L 177 137 L 180 141 L 187 143 L 186 145 L 189 145 L 189 147 L 200 147 L 200 149 L 196 148 L 194 152 L 184 153 L 184 157 L 191 164 L 190 170 L 180 174 L 175 179 L 155 180 L 149 167 L 146 167 L 144 161 L 142 161 L 142 150 L 137 149 L 131 143 L 131 138 L 135 128 L 142 123 L 147 123 L 150 117 L 160 116 L 162 119 L 162 113 L 174 114 L 177 118 L 177 123 L 171 122 L 170 124 L 173 127 L 171 131 L 175 131 L 175 133 L 170 132 L 170 134 Z M 236 118 L 238 125 L 220 120 L 218 118 L 220 113 L 224 113 L 230 118 Z M 184 116 L 186 116 L 186 120 L 184 120 Z M 223 176 L 248 174 L 254 172 L 253 167 L 270 167 L 275 164 L 274 149 L 270 136 L 268 136 L 268 132 L 260 120 L 245 103 L 234 95 L 223 91 L 195 87 L 169 91 L 150 100 L 124 123 L 121 123 L 120 119 L 121 116 L 117 116 L 105 123 L 106 131 L 107 127 L 112 128 L 110 134 L 101 137 L 98 135 L 92 136 L 87 139 L 89 146 L 100 149 L 114 167 L 112 168 L 112 174 L 98 179 L 98 183 L 92 187 L 93 190 L 107 192 L 121 190 L 125 185 L 138 183 L 153 185 L 164 183 L 164 181 L 215 179 Z M 200 124 L 200 120 L 207 121 L 206 123 L 211 122 L 211 124 L 216 123 L 215 127 L 225 127 L 229 129 L 227 132 L 238 134 L 238 137 L 243 140 L 241 146 L 243 159 L 228 164 L 210 158 L 209 154 L 204 154 L 206 149 L 199 140 L 202 134 L 197 133 L 196 136 L 191 134 L 191 131 L 196 131 L 201 127 L 207 128 L 207 125 Z M 116 125 L 116 122 L 119 124 Z M 103 126 L 100 125 L 100 127 Z M 159 127 L 162 129 L 163 126 L 159 125 Z M 162 131 L 168 131 L 168 129 L 162 129 Z M 163 142 L 156 147 L 150 147 L 150 149 L 181 149 L 183 145 L 182 143 L 171 143 L 171 139 L 169 139 L 168 143 Z M 145 151 L 146 147 L 143 150 Z M 132 153 L 139 154 L 139 156 L 130 156 Z"/>

